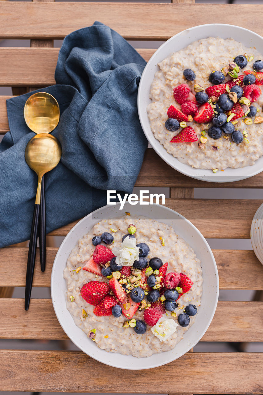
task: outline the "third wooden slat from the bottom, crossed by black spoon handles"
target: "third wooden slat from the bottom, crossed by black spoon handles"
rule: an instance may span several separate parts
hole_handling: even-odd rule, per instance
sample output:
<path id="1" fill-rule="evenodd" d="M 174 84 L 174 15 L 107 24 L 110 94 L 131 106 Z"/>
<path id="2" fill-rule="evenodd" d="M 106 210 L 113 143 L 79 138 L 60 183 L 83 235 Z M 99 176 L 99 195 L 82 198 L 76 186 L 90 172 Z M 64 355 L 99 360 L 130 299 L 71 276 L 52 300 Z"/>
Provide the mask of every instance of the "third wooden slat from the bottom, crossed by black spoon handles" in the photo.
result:
<path id="1" fill-rule="evenodd" d="M 34 287 L 49 287 L 51 269 L 58 248 L 47 248 L 47 269 L 40 270 L 39 252 L 36 254 Z M 263 290 L 262 265 L 252 250 L 213 250 L 219 273 L 221 290 Z M 0 249 L 0 284 L 23 287 L 26 278 L 28 248 Z M 66 264 L 66 263 L 65 263 Z M 19 265 L 19 270 L 17 270 Z"/>

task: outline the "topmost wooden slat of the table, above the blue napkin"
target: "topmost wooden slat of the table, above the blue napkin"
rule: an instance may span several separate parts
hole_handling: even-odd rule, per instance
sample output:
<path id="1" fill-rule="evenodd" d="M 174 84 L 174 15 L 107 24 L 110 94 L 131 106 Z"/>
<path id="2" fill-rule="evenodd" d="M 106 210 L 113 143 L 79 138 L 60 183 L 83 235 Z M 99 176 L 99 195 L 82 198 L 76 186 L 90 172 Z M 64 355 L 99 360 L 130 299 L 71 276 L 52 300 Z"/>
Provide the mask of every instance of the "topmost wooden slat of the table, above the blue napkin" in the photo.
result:
<path id="1" fill-rule="evenodd" d="M 19 18 L 17 18 L 19 15 Z M 167 17 L 169 15 L 169 17 Z M 178 15 L 187 17 L 178 18 Z M 167 40 L 192 26 L 233 24 L 262 34 L 263 6 L 259 4 L 147 4 L 147 3 L 34 3 L 0 4 L 0 38 L 61 39 L 73 30 L 100 21 L 128 39 Z M 28 17 L 30 16 L 30 23 Z M 152 23 L 158 18 L 158 23 Z"/>

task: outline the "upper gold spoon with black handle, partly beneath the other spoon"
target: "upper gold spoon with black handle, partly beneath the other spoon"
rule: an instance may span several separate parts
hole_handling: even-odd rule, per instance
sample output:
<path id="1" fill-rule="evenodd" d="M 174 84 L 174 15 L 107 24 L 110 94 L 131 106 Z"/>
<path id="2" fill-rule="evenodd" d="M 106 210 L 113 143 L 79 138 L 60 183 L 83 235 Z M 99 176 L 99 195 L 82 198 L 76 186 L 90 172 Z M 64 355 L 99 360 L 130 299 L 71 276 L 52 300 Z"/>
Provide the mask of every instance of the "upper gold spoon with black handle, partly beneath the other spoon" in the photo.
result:
<path id="1" fill-rule="evenodd" d="M 60 111 L 58 102 L 49 93 L 37 92 L 31 95 L 24 105 L 24 120 L 28 128 L 36 134 L 50 133 L 58 125 Z M 46 265 L 46 214 L 44 177 L 41 185 L 41 203 L 39 209 L 39 252 L 41 271 Z"/>

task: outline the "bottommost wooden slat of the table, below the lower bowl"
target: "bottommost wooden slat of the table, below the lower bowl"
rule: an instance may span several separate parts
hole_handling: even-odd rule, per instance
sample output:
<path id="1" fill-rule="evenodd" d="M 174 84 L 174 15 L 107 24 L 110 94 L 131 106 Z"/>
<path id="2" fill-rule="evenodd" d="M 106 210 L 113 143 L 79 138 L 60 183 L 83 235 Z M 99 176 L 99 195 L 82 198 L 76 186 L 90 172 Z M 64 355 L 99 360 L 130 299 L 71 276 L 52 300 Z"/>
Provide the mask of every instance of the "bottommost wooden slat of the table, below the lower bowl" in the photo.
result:
<path id="1" fill-rule="evenodd" d="M 136 378 L 128 389 L 133 393 L 263 391 L 260 353 L 193 352 L 162 368 L 124 371 L 106 367 L 79 351 L 2 350 L 0 366 L 0 391 L 123 393 L 124 377 Z"/>

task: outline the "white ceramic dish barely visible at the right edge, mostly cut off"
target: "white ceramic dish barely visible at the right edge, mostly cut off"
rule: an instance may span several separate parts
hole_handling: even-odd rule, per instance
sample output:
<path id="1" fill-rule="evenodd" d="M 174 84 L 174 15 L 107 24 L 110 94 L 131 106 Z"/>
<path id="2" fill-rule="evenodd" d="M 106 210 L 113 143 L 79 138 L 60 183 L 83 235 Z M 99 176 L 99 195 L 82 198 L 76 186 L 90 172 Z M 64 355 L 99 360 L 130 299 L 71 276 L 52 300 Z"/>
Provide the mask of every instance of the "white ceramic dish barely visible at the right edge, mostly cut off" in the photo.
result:
<path id="1" fill-rule="evenodd" d="M 255 212 L 250 228 L 252 248 L 263 265 L 263 204 Z"/>

